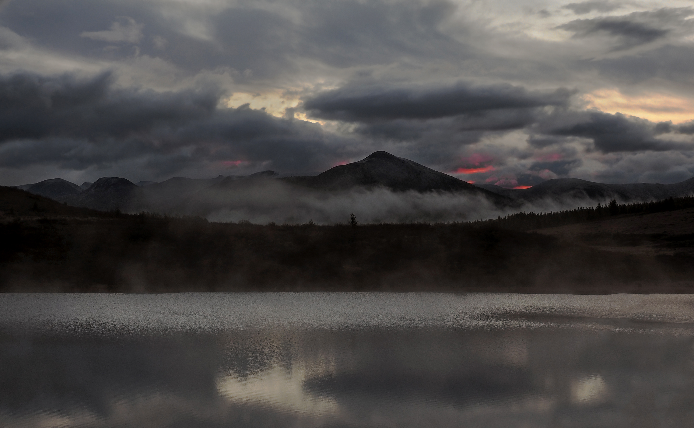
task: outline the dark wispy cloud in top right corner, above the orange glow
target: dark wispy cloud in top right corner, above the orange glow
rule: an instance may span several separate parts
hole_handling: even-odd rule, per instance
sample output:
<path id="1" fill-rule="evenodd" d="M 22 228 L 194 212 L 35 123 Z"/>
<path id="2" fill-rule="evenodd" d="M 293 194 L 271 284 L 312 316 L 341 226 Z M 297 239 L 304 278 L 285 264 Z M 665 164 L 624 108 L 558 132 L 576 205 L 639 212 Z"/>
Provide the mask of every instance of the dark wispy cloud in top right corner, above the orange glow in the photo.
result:
<path id="1" fill-rule="evenodd" d="M 613 49 L 629 49 L 665 38 L 682 27 L 691 27 L 686 17 L 693 13 L 692 8 L 663 8 L 624 16 L 576 19 L 557 28 L 573 32 L 575 38 L 607 35 L 618 40 L 618 46 Z"/>

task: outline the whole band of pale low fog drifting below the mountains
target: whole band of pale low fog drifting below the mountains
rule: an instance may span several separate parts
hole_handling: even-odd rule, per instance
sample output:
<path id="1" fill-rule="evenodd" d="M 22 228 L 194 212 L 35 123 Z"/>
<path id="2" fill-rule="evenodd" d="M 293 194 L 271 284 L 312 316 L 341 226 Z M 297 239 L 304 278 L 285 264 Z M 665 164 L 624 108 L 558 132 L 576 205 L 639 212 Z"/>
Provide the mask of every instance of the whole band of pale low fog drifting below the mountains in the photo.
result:
<path id="1" fill-rule="evenodd" d="M 355 214 L 360 223 L 447 223 L 496 219 L 517 212 L 554 212 L 599 203 L 607 205 L 609 199 L 548 197 L 501 205 L 482 194 L 393 191 L 385 187 L 319 191 L 279 180 L 257 180 L 244 186 L 210 187 L 178 201 L 143 196 L 125 211 L 192 215 L 215 222 L 303 224 L 313 221 L 318 225 L 333 225 L 347 223 L 350 214 Z"/>

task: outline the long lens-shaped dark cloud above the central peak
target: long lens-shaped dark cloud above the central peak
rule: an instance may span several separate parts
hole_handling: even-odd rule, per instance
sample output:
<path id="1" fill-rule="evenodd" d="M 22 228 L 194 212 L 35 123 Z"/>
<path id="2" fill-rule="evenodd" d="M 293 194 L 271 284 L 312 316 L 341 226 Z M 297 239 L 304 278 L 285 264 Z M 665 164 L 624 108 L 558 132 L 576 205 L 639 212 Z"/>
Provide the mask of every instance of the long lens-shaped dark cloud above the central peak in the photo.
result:
<path id="1" fill-rule="evenodd" d="M 346 86 L 307 99 L 303 107 L 314 117 L 341 121 L 434 119 L 489 110 L 528 109 L 566 105 L 571 92 L 528 91 L 512 85 L 450 87 Z"/>

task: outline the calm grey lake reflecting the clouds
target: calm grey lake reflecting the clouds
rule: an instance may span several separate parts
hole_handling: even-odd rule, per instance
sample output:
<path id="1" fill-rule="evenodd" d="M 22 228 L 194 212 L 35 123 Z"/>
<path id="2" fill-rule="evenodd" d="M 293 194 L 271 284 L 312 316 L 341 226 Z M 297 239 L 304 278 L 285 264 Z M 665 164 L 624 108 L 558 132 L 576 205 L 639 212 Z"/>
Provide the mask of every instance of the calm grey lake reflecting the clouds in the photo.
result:
<path id="1" fill-rule="evenodd" d="M 694 296 L 0 294 L 1 427 L 694 427 Z"/>

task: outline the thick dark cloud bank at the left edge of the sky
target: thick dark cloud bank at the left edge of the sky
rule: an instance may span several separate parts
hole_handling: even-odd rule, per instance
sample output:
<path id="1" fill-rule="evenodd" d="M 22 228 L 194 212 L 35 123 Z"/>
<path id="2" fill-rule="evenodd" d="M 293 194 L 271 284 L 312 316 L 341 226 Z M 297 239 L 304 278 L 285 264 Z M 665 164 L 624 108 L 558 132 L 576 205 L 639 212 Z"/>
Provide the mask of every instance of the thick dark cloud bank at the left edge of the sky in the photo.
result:
<path id="1" fill-rule="evenodd" d="M 110 74 L 78 80 L 35 74 L 0 76 L 0 143 L 10 139 L 123 138 L 158 126 L 210 117 L 214 92 L 113 89 Z"/>

